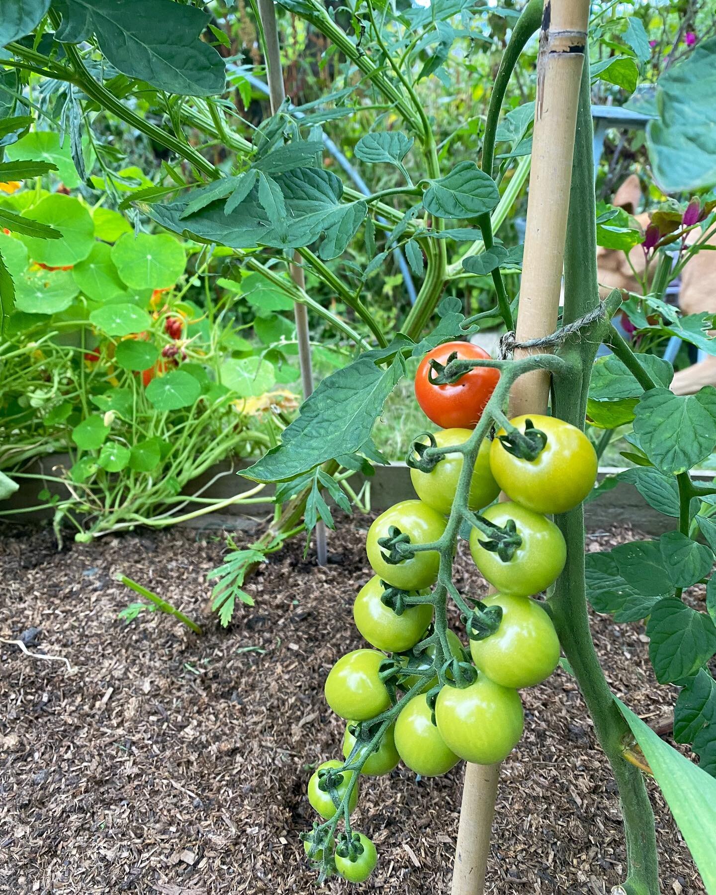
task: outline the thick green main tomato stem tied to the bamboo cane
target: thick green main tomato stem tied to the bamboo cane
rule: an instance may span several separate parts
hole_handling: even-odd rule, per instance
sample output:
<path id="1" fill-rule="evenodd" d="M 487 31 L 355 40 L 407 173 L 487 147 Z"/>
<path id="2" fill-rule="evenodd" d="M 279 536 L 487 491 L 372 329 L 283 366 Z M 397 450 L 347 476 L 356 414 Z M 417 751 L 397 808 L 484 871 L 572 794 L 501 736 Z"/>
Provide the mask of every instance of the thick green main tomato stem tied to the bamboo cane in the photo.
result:
<path id="1" fill-rule="evenodd" d="M 592 117 L 589 96 L 589 64 L 585 60 L 577 113 L 575 165 L 569 202 L 565 252 L 565 324 L 578 320 L 599 302 L 596 271 L 596 226 L 592 169 Z M 600 322 L 603 332 L 609 324 Z M 584 428 L 590 371 L 601 339 L 575 340 L 564 346 L 562 357 L 571 357 L 582 371 L 575 388 L 554 383 L 553 413 Z M 624 758 L 630 731 L 617 704 L 592 643 L 584 584 L 584 510 L 575 507 L 556 516 L 567 543 L 567 565 L 550 597 L 550 608 L 594 730 L 617 780 L 626 832 L 626 895 L 659 895 L 659 865 L 652 806 L 641 771 Z"/>

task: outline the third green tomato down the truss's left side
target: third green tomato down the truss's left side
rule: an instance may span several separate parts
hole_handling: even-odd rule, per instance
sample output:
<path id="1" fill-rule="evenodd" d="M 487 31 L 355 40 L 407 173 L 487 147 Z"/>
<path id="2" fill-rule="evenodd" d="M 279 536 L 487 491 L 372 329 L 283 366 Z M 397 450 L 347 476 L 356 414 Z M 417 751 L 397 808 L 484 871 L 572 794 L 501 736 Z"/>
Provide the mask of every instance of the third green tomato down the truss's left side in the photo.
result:
<path id="1" fill-rule="evenodd" d="M 358 592 L 353 604 L 355 626 L 371 646 L 385 652 L 405 652 L 417 644 L 432 621 L 432 606 L 409 606 L 401 615 L 380 600 L 378 575 Z"/>

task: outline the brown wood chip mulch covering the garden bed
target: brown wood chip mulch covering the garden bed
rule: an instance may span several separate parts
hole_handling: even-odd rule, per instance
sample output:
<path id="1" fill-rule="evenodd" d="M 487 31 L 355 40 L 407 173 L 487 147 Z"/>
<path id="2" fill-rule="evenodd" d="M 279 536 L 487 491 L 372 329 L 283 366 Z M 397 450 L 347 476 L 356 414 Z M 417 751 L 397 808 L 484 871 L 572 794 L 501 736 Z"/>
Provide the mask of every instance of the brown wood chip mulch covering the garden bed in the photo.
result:
<path id="1" fill-rule="evenodd" d="M 322 695 L 338 656 L 361 645 L 352 602 L 371 574 L 370 519 L 330 533 L 331 563 L 303 544 L 249 585 L 256 605 L 225 631 L 211 618 L 206 573 L 223 542 L 169 531 L 107 537 L 57 553 L 47 529 L 0 537 L 0 891 L 215 895 L 311 893 L 298 834 L 316 763 L 339 756 L 342 727 Z M 603 550 L 634 533 L 592 533 Z M 207 538 L 208 540 L 201 540 Z M 463 545 L 464 546 L 464 545 Z M 456 584 L 482 592 L 472 563 Z M 117 612 L 135 596 L 123 572 L 205 629 Z M 594 616 L 615 692 L 645 720 L 669 714 L 644 627 Z M 503 765 L 487 891 L 605 895 L 625 875 L 616 787 L 573 679 L 558 669 L 524 692 L 522 742 Z M 357 891 L 447 895 L 463 771 L 420 780 L 404 768 L 362 781 L 357 829 L 379 869 Z M 657 788 L 662 891 L 705 891 Z M 323 891 L 344 893 L 339 880 Z M 356 891 L 356 890 L 354 890 Z"/>

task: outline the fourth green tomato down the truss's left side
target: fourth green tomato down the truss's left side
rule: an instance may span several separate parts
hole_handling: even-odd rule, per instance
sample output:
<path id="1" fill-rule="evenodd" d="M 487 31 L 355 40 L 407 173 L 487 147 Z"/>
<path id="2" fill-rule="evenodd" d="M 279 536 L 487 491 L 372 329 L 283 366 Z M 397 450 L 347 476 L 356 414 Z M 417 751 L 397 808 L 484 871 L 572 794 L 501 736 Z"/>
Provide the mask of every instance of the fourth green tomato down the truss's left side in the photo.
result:
<path id="1" fill-rule="evenodd" d="M 326 701 L 345 720 L 366 721 L 385 712 L 390 697 L 378 676 L 380 662 L 385 659 L 376 650 L 346 652 L 326 678 Z"/>

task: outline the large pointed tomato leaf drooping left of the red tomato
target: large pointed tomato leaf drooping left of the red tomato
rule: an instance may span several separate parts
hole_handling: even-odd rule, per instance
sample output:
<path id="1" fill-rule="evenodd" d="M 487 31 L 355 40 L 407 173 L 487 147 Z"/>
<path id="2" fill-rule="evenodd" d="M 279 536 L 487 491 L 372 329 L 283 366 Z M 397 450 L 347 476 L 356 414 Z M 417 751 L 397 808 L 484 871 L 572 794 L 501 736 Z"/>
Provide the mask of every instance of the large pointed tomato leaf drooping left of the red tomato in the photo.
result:
<path id="1" fill-rule="evenodd" d="M 257 482 L 279 482 L 325 460 L 360 450 L 371 436 L 386 398 L 405 375 L 402 354 L 383 370 L 365 358 L 323 379 L 283 432 L 282 444 L 245 473 Z"/>

